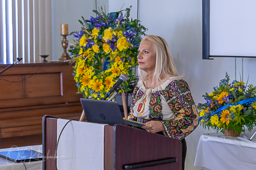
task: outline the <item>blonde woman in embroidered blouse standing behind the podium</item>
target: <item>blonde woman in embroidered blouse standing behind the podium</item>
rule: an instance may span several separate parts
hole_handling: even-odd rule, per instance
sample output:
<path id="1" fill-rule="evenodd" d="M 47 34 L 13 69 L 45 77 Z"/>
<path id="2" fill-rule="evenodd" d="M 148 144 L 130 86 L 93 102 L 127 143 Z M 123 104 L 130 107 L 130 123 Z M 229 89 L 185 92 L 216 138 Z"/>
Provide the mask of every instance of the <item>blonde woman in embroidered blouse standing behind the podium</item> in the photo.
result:
<path id="1" fill-rule="evenodd" d="M 182 169 L 186 159 L 185 137 L 195 130 L 198 113 L 188 83 L 179 75 L 166 41 L 145 36 L 138 49 L 140 80 L 133 92 L 130 120 L 143 129 L 182 141 Z"/>

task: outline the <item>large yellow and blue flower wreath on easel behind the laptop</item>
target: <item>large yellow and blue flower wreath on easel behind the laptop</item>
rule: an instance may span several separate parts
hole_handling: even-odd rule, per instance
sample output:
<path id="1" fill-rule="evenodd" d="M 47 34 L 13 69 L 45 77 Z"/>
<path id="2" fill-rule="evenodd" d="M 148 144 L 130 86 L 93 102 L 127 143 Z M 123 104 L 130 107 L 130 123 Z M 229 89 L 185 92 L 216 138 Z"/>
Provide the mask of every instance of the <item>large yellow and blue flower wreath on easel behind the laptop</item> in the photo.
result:
<path id="1" fill-rule="evenodd" d="M 132 68 L 138 65 L 138 46 L 147 29 L 139 20 L 129 19 L 130 11 L 131 7 L 106 15 L 103 8 L 93 10 L 97 17 L 82 17 L 81 31 L 71 33 L 76 39 L 68 51 L 76 61 L 77 91 L 84 97 L 103 99 L 121 74 L 128 80 L 120 91 L 131 90 L 129 83 L 136 78 Z"/>

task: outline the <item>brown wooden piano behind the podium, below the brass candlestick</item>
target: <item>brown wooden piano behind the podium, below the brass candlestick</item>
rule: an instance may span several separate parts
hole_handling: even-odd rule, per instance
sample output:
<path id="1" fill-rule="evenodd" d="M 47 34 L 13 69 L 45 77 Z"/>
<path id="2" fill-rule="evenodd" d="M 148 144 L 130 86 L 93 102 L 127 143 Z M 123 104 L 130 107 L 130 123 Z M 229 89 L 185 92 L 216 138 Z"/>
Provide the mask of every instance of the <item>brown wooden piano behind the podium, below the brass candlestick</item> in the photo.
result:
<path id="1" fill-rule="evenodd" d="M 0 65 L 0 70 L 8 65 Z M 42 117 L 79 119 L 83 108 L 68 62 L 16 64 L 0 75 L 2 138 L 42 134 Z"/>

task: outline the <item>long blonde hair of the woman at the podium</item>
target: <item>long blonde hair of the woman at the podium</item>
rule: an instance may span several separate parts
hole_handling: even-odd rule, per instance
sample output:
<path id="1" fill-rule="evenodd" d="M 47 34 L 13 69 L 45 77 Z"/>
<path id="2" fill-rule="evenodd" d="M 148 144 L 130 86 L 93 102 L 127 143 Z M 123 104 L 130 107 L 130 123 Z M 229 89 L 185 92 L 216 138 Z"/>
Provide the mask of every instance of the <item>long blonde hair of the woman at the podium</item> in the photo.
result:
<path id="1" fill-rule="evenodd" d="M 164 81 L 161 80 L 160 75 L 162 77 L 180 76 L 168 44 L 164 38 L 148 35 L 141 39 L 141 42 L 143 41 L 151 41 L 154 44 L 154 52 L 156 52 L 156 69 L 153 77 L 156 78 L 156 81 Z M 138 68 L 138 75 L 140 80 L 146 80 L 148 76 L 148 74 L 140 68 Z"/>

